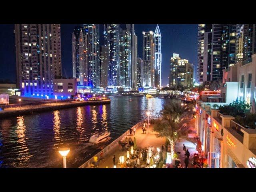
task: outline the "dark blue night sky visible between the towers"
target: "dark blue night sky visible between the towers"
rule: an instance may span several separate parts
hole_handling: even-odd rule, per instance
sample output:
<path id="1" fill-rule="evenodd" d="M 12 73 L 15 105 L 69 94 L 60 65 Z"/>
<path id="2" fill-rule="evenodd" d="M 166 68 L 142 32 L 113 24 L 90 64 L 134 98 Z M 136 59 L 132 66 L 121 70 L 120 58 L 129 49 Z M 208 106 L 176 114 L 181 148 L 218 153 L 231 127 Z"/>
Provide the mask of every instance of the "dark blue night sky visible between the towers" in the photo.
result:
<path id="1" fill-rule="evenodd" d="M 61 24 L 62 74 L 72 76 L 72 32 L 79 24 Z M 102 25 L 101 25 L 102 26 Z M 124 28 L 124 24 L 120 27 Z M 170 57 L 173 53 L 197 64 L 197 25 L 159 24 L 162 35 L 162 85 L 168 84 Z M 142 58 L 142 31 L 156 29 L 156 24 L 135 24 L 138 56 Z M 14 24 L 0 24 L 0 79 L 16 80 Z M 102 39 L 102 27 L 100 28 Z M 66 75 L 65 75 L 66 71 Z"/>

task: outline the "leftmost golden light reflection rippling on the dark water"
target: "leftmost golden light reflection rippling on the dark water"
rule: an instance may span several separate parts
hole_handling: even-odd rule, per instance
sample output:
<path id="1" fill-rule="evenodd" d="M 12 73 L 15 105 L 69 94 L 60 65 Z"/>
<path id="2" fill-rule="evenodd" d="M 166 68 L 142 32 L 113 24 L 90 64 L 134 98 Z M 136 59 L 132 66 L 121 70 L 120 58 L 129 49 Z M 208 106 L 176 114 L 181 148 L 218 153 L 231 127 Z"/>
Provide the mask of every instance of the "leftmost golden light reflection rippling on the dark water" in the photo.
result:
<path id="1" fill-rule="evenodd" d="M 26 144 L 26 126 L 24 124 L 24 117 L 19 116 L 17 117 L 17 142 L 20 144 L 20 152 L 17 157 L 18 162 L 20 163 L 26 163 L 30 159 L 32 155 L 29 154 L 28 146 Z"/>

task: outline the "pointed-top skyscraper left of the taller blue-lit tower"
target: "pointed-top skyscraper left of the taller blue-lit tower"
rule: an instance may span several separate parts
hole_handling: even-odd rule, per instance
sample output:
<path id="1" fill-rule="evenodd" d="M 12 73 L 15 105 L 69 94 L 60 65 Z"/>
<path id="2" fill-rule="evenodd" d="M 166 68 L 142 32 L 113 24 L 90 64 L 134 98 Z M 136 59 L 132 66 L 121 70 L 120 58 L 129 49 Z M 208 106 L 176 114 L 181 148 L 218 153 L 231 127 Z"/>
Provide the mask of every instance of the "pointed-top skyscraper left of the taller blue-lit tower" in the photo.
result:
<path id="1" fill-rule="evenodd" d="M 88 85 L 87 38 L 82 27 L 75 27 L 72 33 L 73 78 L 78 85 Z"/>

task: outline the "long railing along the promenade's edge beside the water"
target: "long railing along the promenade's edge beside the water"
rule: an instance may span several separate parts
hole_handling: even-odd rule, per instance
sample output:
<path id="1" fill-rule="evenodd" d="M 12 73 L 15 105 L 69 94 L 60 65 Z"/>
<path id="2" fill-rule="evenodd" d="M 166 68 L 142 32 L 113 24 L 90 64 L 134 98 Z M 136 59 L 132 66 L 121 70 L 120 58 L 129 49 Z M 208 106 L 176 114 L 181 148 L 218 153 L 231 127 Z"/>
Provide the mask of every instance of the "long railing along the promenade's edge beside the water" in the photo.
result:
<path id="1" fill-rule="evenodd" d="M 138 128 L 140 126 L 142 126 L 143 122 L 145 120 L 142 120 L 140 122 L 138 122 L 137 124 L 135 124 L 132 128 Z M 112 150 L 114 150 L 114 148 L 118 145 L 118 141 L 122 140 L 124 137 L 128 136 L 128 134 L 130 133 L 130 130 L 127 130 L 126 132 L 124 132 L 124 134 L 122 134 L 120 137 L 118 137 L 116 140 L 114 140 L 112 143 L 110 143 L 108 146 L 106 146 L 103 150 L 104 155 L 110 153 Z M 100 152 L 101 152 L 100 151 Z M 98 152 L 96 155 L 98 159 L 100 159 L 100 152 Z M 93 157 L 90 158 L 88 161 L 86 161 L 84 164 L 82 164 L 79 168 L 90 168 L 90 164 L 92 164 L 92 162 L 94 161 Z"/>

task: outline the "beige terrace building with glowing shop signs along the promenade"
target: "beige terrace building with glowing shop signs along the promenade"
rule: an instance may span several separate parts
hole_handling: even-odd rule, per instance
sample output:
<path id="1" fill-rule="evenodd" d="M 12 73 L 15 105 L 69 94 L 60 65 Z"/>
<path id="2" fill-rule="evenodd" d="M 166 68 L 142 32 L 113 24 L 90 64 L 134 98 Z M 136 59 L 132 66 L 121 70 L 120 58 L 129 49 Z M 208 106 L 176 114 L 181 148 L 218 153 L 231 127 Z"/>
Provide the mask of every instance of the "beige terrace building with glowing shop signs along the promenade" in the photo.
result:
<path id="1" fill-rule="evenodd" d="M 211 105 L 196 106 L 196 131 L 209 167 L 255 168 L 256 130 L 242 127 Z"/>

